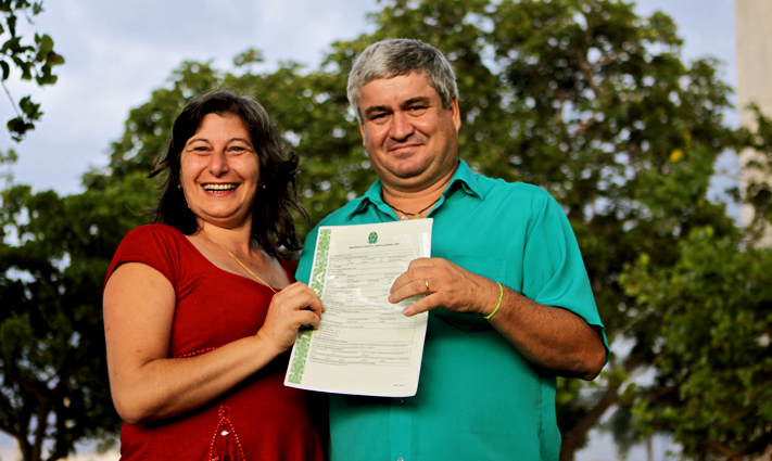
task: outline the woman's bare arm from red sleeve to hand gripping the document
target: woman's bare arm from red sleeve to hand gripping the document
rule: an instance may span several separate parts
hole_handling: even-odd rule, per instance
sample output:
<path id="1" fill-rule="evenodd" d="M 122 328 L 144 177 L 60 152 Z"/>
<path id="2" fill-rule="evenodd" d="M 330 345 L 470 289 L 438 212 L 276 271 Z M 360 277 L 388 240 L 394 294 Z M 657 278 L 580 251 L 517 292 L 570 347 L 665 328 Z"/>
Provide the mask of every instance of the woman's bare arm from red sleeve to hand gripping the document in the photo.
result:
<path id="1" fill-rule="evenodd" d="M 169 281 L 143 264 L 119 266 L 106 283 L 110 388 L 128 423 L 180 414 L 222 395 L 289 349 L 301 325 L 318 328 L 322 310 L 311 289 L 293 283 L 274 296 L 254 336 L 207 354 L 167 358 L 175 303 Z"/>

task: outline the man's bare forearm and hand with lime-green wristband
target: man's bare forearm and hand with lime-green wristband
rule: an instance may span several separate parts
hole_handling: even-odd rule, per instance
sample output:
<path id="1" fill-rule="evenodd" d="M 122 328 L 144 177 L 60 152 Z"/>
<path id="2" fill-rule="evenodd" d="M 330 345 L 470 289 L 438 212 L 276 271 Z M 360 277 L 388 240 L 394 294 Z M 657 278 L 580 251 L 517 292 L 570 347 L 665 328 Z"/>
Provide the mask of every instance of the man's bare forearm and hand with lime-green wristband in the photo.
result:
<path id="1" fill-rule="evenodd" d="M 558 375 L 592 380 L 600 373 L 606 346 L 600 333 L 578 315 L 559 307 L 539 304 L 490 279 L 441 258 L 414 260 L 394 282 L 391 303 L 429 295 L 406 307 L 415 316 L 442 307 L 456 312 L 491 315 L 501 296 L 501 306 L 489 320 L 533 363 Z"/>

